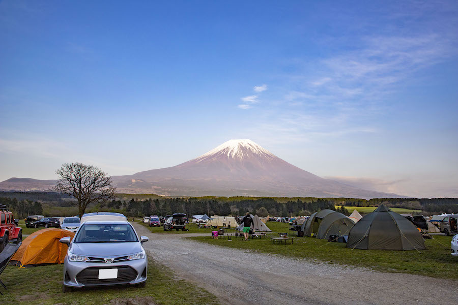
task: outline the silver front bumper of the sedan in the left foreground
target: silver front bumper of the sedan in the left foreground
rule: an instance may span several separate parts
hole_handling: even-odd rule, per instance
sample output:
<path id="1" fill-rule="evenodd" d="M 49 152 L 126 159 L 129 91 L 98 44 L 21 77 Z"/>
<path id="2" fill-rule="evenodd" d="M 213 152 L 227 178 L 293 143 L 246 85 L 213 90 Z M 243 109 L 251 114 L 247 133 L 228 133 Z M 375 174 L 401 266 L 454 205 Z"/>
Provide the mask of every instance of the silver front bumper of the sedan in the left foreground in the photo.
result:
<path id="1" fill-rule="evenodd" d="M 82 280 L 82 274 L 91 271 L 93 275 L 97 275 L 98 269 L 111 269 L 118 268 L 118 270 L 129 270 L 133 275 L 128 277 L 127 275 L 120 275 L 118 273 L 118 279 L 112 279 L 108 281 L 96 280 L 84 282 Z M 108 286 L 108 285 L 121 285 L 121 284 L 140 284 L 147 280 L 147 268 L 148 268 L 148 257 L 145 259 L 138 259 L 132 261 L 123 261 L 116 263 L 85 263 L 85 262 L 71 262 L 68 260 L 68 256 L 64 261 L 64 285 L 68 287 L 87 287 L 87 286 Z M 132 269 L 135 271 L 134 275 Z M 81 273 L 84 271 L 83 273 Z M 79 275 L 79 277 L 78 277 Z M 79 280 L 77 279 L 79 278 Z M 128 280 L 126 280 L 128 278 Z M 87 277 L 86 277 L 87 280 Z"/>

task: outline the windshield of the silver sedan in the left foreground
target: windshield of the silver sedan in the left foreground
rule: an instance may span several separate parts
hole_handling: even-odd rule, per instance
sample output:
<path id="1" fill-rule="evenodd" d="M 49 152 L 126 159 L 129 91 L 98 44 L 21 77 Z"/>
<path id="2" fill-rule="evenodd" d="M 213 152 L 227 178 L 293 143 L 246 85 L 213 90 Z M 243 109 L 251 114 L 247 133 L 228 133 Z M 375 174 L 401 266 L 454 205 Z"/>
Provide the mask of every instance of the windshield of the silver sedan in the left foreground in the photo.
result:
<path id="1" fill-rule="evenodd" d="M 135 242 L 137 236 L 128 224 L 87 224 L 79 229 L 75 243 L 90 242 Z"/>

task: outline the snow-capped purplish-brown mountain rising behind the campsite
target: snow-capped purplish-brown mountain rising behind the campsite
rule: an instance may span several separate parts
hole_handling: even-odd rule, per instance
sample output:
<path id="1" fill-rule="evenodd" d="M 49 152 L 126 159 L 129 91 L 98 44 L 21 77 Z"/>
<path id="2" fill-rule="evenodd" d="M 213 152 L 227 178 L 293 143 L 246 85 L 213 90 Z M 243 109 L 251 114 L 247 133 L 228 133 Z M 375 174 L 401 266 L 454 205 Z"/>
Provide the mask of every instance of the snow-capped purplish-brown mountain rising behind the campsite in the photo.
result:
<path id="1" fill-rule="evenodd" d="M 177 166 L 112 178 L 120 192 L 170 196 L 399 197 L 321 178 L 249 139 L 227 141 Z"/>

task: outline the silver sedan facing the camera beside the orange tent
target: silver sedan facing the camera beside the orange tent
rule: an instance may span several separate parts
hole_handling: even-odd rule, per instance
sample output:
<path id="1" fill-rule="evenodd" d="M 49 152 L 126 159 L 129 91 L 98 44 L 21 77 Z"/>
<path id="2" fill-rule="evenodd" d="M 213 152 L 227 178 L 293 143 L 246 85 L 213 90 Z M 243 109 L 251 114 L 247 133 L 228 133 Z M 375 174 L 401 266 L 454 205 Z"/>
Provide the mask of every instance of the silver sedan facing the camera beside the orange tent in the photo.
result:
<path id="1" fill-rule="evenodd" d="M 144 287 L 148 258 L 142 243 L 127 221 L 86 221 L 68 244 L 64 261 L 63 291 L 85 286 L 136 284 Z"/>

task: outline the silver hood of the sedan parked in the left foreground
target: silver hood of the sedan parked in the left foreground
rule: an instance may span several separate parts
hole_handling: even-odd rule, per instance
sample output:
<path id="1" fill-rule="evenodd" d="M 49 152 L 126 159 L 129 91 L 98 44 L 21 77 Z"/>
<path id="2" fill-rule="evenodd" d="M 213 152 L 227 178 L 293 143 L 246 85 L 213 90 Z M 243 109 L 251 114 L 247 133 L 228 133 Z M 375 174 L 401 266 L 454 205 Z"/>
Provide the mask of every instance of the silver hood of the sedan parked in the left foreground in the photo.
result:
<path id="1" fill-rule="evenodd" d="M 84 256 L 122 256 L 141 252 L 140 242 L 72 243 L 73 254 Z"/>

